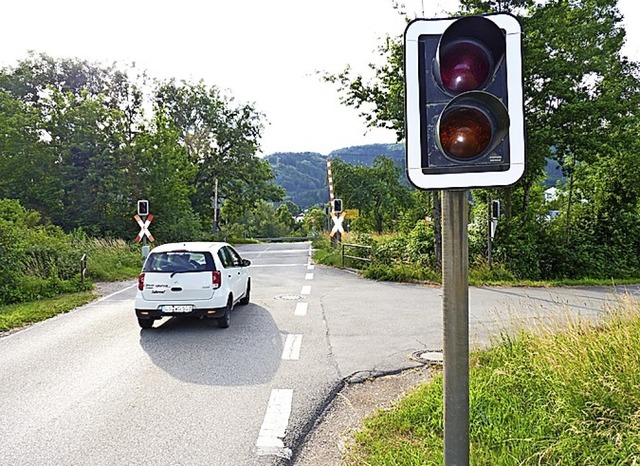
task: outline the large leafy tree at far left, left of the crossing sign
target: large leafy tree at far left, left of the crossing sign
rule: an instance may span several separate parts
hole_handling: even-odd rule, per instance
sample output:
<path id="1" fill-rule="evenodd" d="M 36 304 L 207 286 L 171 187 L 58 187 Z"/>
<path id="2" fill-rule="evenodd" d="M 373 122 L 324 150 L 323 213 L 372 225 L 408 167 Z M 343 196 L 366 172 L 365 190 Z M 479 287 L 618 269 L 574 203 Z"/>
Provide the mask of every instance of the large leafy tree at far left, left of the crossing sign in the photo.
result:
<path id="1" fill-rule="evenodd" d="M 144 130 L 142 93 L 128 73 L 31 53 L 0 72 L 0 92 L 33 119 L 34 142 L 8 154 L 23 167 L 9 172 L 10 196 L 66 230 L 126 235 L 137 181 L 132 145 Z"/>

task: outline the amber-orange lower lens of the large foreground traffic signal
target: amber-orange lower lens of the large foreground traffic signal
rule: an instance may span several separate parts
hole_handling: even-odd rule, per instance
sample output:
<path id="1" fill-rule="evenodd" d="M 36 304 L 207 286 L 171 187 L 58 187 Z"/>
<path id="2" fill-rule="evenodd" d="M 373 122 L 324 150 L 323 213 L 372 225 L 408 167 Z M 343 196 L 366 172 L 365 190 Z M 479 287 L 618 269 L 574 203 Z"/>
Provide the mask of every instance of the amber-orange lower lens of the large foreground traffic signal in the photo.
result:
<path id="1" fill-rule="evenodd" d="M 483 112 L 472 107 L 454 107 L 440 120 L 440 145 L 447 155 L 472 159 L 487 150 L 493 128 Z"/>

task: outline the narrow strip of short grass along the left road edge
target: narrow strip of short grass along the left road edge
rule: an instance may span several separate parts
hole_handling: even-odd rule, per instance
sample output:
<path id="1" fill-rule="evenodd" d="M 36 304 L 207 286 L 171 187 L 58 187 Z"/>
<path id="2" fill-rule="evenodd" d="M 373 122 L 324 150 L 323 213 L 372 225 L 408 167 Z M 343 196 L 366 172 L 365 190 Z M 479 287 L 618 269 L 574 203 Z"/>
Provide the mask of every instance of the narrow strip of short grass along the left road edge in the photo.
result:
<path id="1" fill-rule="evenodd" d="M 96 299 L 91 291 L 67 293 L 55 298 L 0 306 L 0 332 L 24 327 L 69 312 Z"/>

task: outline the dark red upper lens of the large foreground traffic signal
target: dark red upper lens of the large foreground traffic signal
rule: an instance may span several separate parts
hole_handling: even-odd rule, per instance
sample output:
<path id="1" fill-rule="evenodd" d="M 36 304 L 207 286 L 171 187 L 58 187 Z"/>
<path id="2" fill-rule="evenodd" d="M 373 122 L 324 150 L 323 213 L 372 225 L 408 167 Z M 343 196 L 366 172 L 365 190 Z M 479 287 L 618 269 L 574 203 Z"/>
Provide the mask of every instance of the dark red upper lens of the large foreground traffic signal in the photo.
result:
<path id="1" fill-rule="evenodd" d="M 483 86 L 492 71 L 489 53 L 475 42 L 447 46 L 440 57 L 440 79 L 449 91 L 460 94 Z"/>

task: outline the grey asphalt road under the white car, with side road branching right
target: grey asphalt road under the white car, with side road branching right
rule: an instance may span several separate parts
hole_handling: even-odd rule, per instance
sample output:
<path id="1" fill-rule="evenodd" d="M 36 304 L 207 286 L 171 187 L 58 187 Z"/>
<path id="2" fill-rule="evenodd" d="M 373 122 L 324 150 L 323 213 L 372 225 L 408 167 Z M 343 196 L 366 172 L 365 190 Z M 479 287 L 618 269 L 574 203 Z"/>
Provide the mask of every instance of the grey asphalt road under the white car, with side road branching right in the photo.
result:
<path id="1" fill-rule="evenodd" d="M 140 330 L 134 282 L 0 338 L 0 464 L 290 464 L 344 380 L 442 348 L 441 289 L 314 266 L 309 243 L 246 245 L 252 302 L 228 329 Z M 598 318 L 637 288 L 472 288 L 470 338 Z"/>

